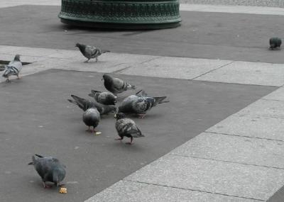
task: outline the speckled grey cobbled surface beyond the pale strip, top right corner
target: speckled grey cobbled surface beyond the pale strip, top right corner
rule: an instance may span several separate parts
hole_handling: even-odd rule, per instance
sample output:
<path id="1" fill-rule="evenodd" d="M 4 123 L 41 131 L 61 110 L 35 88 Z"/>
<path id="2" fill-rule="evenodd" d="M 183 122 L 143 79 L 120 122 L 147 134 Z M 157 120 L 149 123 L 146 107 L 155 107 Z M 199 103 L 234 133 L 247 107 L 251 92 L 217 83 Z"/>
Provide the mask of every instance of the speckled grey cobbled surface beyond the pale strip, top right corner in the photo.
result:
<path id="1" fill-rule="evenodd" d="M 242 6 L 272 6 L 283 7 L 281 0 L 180 0 L 183 4 L 214 4 L 214 5 L 242 5 Z"/>

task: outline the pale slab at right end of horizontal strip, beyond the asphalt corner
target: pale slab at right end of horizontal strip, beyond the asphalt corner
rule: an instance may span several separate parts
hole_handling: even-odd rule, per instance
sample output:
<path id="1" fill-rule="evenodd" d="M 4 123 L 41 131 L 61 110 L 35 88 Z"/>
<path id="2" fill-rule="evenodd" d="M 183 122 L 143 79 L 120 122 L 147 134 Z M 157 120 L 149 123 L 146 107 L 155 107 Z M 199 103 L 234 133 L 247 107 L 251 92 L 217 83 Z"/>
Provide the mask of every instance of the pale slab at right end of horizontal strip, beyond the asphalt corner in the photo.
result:
<path id="1" fill-rule="evenodd" d="M 198 77 L 197 80 L 229 82 L 236 84 L 256 84 L 283 86 L 284 68 L 282 64 L 258 64 L 257 62 L 234 62 Z"/>

